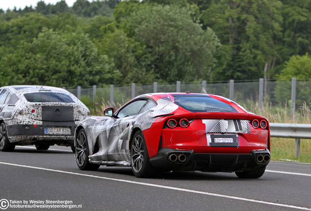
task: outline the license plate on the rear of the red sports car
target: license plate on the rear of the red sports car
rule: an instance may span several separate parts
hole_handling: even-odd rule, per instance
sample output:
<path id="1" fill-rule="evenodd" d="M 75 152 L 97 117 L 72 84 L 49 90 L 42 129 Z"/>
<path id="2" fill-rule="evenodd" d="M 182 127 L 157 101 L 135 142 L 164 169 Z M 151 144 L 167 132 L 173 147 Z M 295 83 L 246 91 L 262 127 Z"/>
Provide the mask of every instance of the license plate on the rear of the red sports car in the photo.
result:
<path id="1" fill-rule="evenodd" d="M 225 135 L 225 134 L 212 134 L 211 135 L 211 147 L 239 147 L 238 135 Z"/>

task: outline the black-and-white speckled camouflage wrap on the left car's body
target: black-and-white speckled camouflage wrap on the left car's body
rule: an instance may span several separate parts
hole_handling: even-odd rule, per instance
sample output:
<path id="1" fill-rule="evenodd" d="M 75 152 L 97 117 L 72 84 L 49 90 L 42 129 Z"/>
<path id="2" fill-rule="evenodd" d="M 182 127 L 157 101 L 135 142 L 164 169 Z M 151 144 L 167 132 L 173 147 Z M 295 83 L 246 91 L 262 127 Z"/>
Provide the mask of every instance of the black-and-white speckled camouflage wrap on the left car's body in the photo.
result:
<path id="1" fill-rule="evenodd" d="M 22 85 L 17 85 L 22 87 Z M 24 85 L 23 88 L 15 89 L 14 86 L 4 86 L 0 89 L 6 89 L 10 95 L 15 94 L 19 100 L 15 105 L 0 105 L 0 121 L 3 121 L 6 128 L 12 125 L 42 125 L 42 106 L 71 106 L 73 107 L 73 117 L 75 125 L 78 125 L 82 120 L 89 118 L 89 109 L 73 94 L 65 89 L 52 87 L 52 86 L 41 86 L 41 85 Z M 51 93 L 63 93 L 74 101 L 74 103 L 32 103 L 28 102 L 24 97 L 26 93 L 35 92 L 51 92 Z M 31 112 L 32 109 L 35 112 Z M 22 111 L 22 114 L 20 114 Z M 57 123 L 55 123 L 57 125 Z M 44 129 L 44 128 L 43 128 Z M 72 140 L 73 135 L 14 135 L 9 137 L 11 143 L 27 141 L 27 140 Z"/>

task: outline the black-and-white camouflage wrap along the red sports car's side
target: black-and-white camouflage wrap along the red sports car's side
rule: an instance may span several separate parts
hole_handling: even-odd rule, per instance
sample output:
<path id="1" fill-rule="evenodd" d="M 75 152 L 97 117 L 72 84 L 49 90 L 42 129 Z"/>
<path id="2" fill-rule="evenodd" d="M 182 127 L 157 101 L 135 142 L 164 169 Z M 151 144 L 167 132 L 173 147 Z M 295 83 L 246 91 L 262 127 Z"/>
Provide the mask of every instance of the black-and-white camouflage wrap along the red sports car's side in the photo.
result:
<path id="1" fill-rule="evenodd" d="M 146 97 L 140 95 L 136 98 Z M 148 129 L 155 117 L 174 112 L 178 105 L 167 97 L 157 100 L 157 105 L 141 114 L 117 118 L 87 119 L 80 123 L 86 130 L 91 161 L 122 161 L 130 163 L 129 142 L 134 128 Z M 93 154 L 97 143 L 99 151 Z"/>

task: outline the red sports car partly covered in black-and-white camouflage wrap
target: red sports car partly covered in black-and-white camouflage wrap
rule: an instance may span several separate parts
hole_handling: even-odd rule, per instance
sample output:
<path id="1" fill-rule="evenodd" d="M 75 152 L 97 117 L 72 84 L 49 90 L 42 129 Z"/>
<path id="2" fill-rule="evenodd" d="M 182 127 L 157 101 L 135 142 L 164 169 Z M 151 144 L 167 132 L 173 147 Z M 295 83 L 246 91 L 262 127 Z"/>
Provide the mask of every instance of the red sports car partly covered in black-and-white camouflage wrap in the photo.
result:
<path id="1" fill-rule="evenodd" d="M 137 177 L 158 170 L 200 170 L 259 178 L 270 161 L 267 119 L 221 96 L 144 94 L 104 114 L 75 130 L 75 157 L 82 170 L 106 165 L 132 167 Z"/>

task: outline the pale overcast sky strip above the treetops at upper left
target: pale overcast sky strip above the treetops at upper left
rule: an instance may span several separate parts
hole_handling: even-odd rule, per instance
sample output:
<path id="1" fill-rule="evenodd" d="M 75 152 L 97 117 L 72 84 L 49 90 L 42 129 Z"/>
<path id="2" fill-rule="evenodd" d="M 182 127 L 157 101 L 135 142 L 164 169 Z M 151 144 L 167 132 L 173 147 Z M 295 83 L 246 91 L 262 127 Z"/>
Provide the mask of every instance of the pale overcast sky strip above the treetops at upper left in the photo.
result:
<path id="1" fill-rule="evenodd" d="M 11 10 L 14 9 L 14 6 L 16 6 L 17 9 L 21 8 L 25 8 L 25 6 L 30 6 L 32 5 L 32 7 L 37 6 L 37 2 L 40 0 L 0 0 L 0 8 L 4 11 L 6 11 L 8 8 L 10 8 Z M 61 0 L 44 0 L 45 4 L 56 4 L 56 2 L 61 1 Z M 68 4 L 69 7 L 71 7 L 73 5 L 73 3 L 76 0 L 65 0 L 66 3 Z"/>

